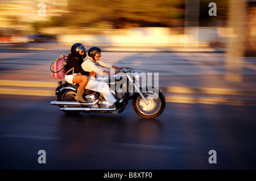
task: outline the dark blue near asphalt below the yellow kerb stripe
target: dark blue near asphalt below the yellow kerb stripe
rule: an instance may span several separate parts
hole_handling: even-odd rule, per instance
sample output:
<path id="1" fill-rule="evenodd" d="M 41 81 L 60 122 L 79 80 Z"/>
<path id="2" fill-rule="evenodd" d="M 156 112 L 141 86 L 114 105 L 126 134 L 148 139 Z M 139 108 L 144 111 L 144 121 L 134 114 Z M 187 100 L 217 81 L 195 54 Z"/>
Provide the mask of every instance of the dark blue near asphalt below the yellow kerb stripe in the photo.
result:
<path id="1" fill-rule="evenodd" d="M 256 169 L 255 106 L 167 103 L 143 120 L 131 104 L 70 116 L 53 99 L 0 95 L 1 169 Z"/>

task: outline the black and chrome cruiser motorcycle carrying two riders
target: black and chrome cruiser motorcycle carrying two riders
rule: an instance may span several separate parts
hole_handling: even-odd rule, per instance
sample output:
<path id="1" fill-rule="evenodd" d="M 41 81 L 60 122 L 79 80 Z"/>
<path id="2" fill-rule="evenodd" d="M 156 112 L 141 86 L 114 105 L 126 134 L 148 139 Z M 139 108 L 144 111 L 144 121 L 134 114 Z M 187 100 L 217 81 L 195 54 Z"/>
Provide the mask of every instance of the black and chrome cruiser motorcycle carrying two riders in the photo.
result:
<path id="1" fill-rule="evenodd" d="M 83 95 L 86 103 L 77 102 L 75 96 L 79 85 L 62 81 L 58 82 L 59 86 L 55 91 L 56 101 L 51 104 L 59 106 L 60 111 L 68 114 L 121 113 L 127 107 L 128 101 L 132 100 L 134 111 L 142 118 L 155 119 L 160 116 L 166 104 L 162 92 L 152 86 L 140 86 L 139 74 L 132 68 L 127 68 L 123 61 L 119 62 L 122 62 L 123 68 L 119 69 L 118 74 L 110 75 L 104 81 L 108 83 L 115 98 L 125 105 L 121 110 L 109 105 L 100 92 L 88 89 L 85 89 Z"/>

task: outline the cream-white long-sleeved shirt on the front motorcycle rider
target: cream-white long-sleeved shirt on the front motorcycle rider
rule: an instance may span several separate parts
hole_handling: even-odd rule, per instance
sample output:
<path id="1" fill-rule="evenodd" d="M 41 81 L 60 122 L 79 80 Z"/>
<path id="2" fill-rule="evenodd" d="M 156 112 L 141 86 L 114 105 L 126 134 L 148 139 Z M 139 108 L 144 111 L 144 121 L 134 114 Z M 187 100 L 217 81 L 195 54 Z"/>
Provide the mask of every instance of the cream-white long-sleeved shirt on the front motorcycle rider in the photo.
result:
<path id="1" fill-rule="evenodd" d="M 87 58 L 84 62 L 82 62 L 82 69 L 84 71 L 95 71 L 97 74 L 100 74 L 104 71 L 104 68 L 111 69 L 112 65 L 106 64 L 105 62 L 102 62 L 100 60 L 98 61 L 93 61 L 90 58 Z"/>

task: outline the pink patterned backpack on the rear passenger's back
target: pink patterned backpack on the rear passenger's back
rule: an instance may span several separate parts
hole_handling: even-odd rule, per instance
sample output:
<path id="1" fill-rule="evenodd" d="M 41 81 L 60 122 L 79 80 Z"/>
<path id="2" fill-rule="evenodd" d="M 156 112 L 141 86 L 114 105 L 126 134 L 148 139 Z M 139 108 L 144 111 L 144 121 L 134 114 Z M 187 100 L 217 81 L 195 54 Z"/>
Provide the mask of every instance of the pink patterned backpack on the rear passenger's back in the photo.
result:
<path id="1" fill-rule="evenodd" d="M 61 55 L 51 64 L 51 75 L 53 79 L 63 79 L 65 77 L 65 65 L 67 64 L 67 56 Z M 74 69 L 74 68 L 72 68 Z M 71 70 L 72 70 L 71 69 Z M 70 70 L 68 70 L 70 71 Z M 67 72 L 68 73 L 68 72 Z"/>

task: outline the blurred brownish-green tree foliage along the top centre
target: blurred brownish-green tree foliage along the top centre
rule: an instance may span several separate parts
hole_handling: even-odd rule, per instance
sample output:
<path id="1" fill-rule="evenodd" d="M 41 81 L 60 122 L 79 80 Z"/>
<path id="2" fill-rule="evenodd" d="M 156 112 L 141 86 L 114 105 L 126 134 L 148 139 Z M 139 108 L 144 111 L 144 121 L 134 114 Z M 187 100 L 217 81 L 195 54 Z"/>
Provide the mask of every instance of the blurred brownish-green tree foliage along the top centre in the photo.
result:
<path id="1" fill-rule="evenodd" d="M 184 0 L 69 0 L 63 17 L 69 26 L 79 27 L 170 27 L 184 23 Z"/>

